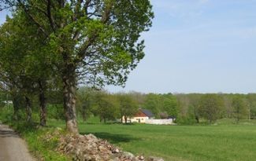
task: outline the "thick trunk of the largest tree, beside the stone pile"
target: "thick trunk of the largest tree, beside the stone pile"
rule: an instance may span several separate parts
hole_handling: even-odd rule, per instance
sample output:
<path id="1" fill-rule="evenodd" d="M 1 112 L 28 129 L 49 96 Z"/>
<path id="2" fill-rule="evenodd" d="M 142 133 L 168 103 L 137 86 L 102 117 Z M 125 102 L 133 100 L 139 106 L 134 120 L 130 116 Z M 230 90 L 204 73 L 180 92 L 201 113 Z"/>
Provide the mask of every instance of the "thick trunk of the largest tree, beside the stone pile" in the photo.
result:
<path id="1" fill-rule="evenodd" d="M 66 127 L 70 133 L 78 134 L 76 122 L 76 68 L 73 64 L 65 64 L 62 71 L 62 82 Z"/>

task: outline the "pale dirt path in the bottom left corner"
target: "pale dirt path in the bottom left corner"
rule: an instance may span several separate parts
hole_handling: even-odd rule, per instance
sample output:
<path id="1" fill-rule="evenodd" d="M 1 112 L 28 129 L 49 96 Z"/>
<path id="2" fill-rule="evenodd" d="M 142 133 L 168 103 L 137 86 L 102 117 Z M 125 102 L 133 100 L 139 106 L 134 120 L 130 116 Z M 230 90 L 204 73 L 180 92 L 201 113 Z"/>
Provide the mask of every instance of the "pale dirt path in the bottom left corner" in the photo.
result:
<path id="1" fill-rule="evenodd" d="M 34 161 L 25 142 L 8 126 L 0 123 L 0 161 Z"/>

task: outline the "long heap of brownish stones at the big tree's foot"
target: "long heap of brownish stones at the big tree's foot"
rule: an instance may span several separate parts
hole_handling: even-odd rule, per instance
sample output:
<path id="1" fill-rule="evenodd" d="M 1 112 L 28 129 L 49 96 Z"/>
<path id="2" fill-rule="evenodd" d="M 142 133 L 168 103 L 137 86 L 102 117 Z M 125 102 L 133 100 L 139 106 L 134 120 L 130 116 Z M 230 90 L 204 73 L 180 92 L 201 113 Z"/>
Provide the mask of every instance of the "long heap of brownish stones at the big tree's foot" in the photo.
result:
<path id="1" fill-rule="evenodd" d="M 59 152 L 80 161 L 164 161 L 157 157 L 135 156 L 99 139 L 93 134 L 66 134 L 60 137 Z"/>

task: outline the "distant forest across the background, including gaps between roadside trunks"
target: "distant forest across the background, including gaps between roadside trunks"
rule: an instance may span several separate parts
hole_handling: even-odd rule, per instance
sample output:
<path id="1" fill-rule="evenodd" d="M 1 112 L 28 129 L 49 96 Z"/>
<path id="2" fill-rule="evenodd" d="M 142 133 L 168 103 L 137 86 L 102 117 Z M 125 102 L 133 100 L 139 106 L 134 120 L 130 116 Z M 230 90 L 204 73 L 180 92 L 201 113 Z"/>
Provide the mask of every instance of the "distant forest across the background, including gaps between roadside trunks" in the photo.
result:
<path id="1" fill-rule="evenodd" d="M 61 92 L 49 91 L 47 98 L 47 118 L 65 119 Z M 7 99 L 13 100 L 7 93 L 1 92 L 1 108 L 7 107 Z M 109 93 L 80 87 L 76 93 L 77 115 L 83 121 L 90 116 L 98 116 L 101 122 L 120 121 L 131 117 L 139 108 L 149 109 L 156 119 L 176 118 L 178 124 L 215 123 L 217 119 L 256 119 L 256 93 Z M 20 96 L 13 105 L 19 107 L 15 117 L 26 118 L 26 100 Z M 32 97 L 31 106 L 35 119 L 39 119 L 39 98 Z M 9 104 L 9 107 L 12 104 Z M 13 110 L 10 110 L 13 112 Z M 14 115 L 9 115 L 13 117 Z"/>

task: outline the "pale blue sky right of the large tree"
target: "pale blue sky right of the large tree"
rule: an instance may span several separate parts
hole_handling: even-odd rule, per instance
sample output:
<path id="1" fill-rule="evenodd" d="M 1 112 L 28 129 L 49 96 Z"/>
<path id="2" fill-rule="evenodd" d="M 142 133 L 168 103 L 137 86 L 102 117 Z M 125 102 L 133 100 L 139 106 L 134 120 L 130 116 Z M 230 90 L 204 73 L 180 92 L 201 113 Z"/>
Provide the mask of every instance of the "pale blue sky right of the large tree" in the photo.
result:
<path id="1" fill-rule="evenodd" d="M 124 89 L 256 93 L 256 0 L 151 0 L 146 56 Z M 0 13 L 0 23 L 5 12 Z"/>

